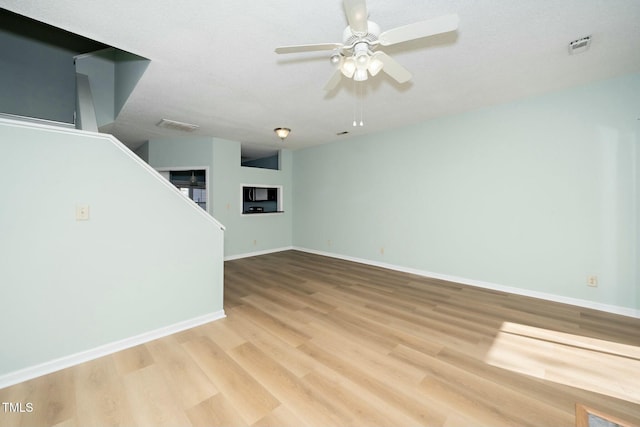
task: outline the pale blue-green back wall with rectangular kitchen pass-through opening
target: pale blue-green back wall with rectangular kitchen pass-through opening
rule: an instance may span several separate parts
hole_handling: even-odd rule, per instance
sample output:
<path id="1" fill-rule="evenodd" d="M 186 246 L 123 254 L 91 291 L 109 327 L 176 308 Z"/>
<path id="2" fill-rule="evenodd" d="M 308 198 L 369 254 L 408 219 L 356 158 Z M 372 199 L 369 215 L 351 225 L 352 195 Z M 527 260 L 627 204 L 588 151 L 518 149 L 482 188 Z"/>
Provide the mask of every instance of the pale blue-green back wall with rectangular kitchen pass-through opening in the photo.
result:
<path id="1" fill-rule="evenodd" d="M 138 154 L 155 168 L 208 166 L 210 213 L 225 230 L 226 257 L 271 251 L 292 244 L 292 160 L 282 150 L 281 169 L 240 166 L 241 144 L 220 138 L 180 137 L 153 139 Z M 283 187 L 284 213 L 242 215 L 243 184 Z"/>

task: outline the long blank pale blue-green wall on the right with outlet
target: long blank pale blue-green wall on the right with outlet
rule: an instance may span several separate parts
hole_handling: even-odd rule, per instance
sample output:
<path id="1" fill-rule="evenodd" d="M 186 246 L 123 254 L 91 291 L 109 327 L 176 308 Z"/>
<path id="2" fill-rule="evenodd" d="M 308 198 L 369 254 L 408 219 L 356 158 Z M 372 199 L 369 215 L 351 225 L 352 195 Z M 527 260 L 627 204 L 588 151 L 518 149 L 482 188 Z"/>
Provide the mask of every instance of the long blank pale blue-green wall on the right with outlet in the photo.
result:
<path id="1" fill-rule="evenodd" d="M 631 75 L 296 151 L 294 245 L 639 308 L 639 93 Z"/>

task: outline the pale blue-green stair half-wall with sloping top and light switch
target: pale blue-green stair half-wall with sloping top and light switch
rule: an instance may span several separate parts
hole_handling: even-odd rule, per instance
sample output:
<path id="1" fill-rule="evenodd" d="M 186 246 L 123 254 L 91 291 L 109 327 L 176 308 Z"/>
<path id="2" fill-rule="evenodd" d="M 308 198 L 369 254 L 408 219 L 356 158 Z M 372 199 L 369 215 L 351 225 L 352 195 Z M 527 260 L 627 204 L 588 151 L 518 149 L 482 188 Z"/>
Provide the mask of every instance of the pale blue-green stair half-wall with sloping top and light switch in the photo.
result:
<path id="1" fill-rule="evenodd" d="M 0 120 L 0 378 L 222 310 L 222 230 L 118 144 Z"/>

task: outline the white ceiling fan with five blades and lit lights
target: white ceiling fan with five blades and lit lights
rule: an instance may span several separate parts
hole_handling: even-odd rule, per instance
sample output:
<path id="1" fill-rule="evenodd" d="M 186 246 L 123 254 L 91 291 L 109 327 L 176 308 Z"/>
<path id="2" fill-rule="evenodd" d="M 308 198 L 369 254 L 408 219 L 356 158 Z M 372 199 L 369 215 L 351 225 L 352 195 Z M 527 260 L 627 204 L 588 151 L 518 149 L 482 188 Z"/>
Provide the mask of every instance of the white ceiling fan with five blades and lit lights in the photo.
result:
<path id="1" fill-rule="evenodd" d="M 338 65 L 333 77 L 325 85 L 330 91 L 344 75 L 355 81 L 365 81 L 368 75 L 375 76 L 381 70 L 398 83 L 411 80 L 411 73 L 378 46 L 391 46 L 409 40 L 454 31 L 458 28 L 458 15 L 444 15 L 434 19 L 380 32 L 375 22 L 369 21 L 366 0 L 344 0 L 344 8 L 349 25 L 342 34 L 342 43 L 320 43 L 295 46 L 281 46 L 276 53 L 298 53 L 332 50 L 331 62 Z"/>

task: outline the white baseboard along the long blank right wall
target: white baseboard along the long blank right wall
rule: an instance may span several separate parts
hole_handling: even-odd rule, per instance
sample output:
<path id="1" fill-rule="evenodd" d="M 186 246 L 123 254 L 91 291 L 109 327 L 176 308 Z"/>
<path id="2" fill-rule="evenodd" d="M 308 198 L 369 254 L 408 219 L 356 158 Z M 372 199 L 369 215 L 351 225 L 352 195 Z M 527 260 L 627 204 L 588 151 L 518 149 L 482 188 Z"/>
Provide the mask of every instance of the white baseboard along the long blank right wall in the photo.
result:
<path id="1" fill-rule="evenodd" d="M 620 314 L 622 316 L 635 317 L 635 318 L 639 318 L 640 319 L 640 310 L 634 310 L 633 308 L 620 307 L 620 306 L 617 306 L 617 305 L 610 305 L 610 304 L 602 304 L 602 303 L 598 303 L 598 302 L 594 302 L 594 301 L 588 301 L 588 300 L 583 300 L 583 299 L 578 299 L 578 298 L 565 297 L 565 296 L 562 296 L 562 295 L 548 294 L 548 293 L 545 293 L 545 292 L 530 291 L 530 290 L 527 290 L 527 289 L 514 288 L 514 287 L 511 287 L 511 286 L 504 286 L 504 285 L 499 285 L 499 284 L 490 283 L 490 282 L 483 282 L 483 281 L 480 281 L 480 280 L 467 279 L 467 278 L 464 278 L 464 277 L 457 277 L 457 276 L 449 276 L 449 275 L 446 275 L 446 274 L 432 273 L 430 271 L 418 270 L 418 269 L 415 269 L 415 268 L 403 267 L 403 266 L 398 266 L 398 265 L 395 265 L 395 264 L 387 264 L 387 263 L 378 262 L 378 261 L 372 261 L 372 260 L 368 260 L 368 259 L 364 259 L 364 258 L 356 258 L 356 257 L 347 256 L 347 255 L 335 254 L 335 253 L 331 253 L 331 252 L 317 251 L 315 249 L 308 249 L 308 248 L 302 248 L 302 247 L 297 247 L 297 246 L 294 246 L 292 249 L 294 249 L 296 251 L 308 252 L 308 253 L 316 254 L 316 255 L 328 256 L 328 257 L 331 257 L 331 258 L 339 258 L 339 259 L 343 259 L 345 261 L 353 261 L 353 262 L 357 262 L 357 263 L 360 263 L 360 264 L 368 264 L 368 265 L 373 265 L 373 266 L 376 266 L 376 267 L 387 268 L 389 270 L 401 271 L 403 273 L 415 274 L 417 276 L 429 277 L 429 278 L 432 278 L 432 279 L 446 280 L 448 282 L 461 283 L 463 285 L 476 286 L 476 287 L 484 288 L 484 289 L 491 289 L 491 290 L 495 290 L 495 291 L 508 292 L 510 294 L 522 295 L 522 296 L 527 296 L 527 297 L 532 297 L 532 298 L 538 298 L 538 299 L 543 299 L 543 300 L 547 300 L 547 301 L 559 302 L 559 303 L 563 303 L 563 304 L 570 304 L 570 305 L 575 305 L 575 306 L 578 306 L 578 307 L 591 308 L 591 309 L 594 309 L 594 310 L 605 311 L 605 312 L 612 313 L 612 314 Z"/>

